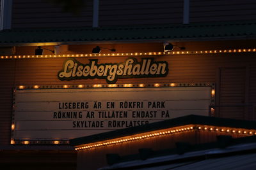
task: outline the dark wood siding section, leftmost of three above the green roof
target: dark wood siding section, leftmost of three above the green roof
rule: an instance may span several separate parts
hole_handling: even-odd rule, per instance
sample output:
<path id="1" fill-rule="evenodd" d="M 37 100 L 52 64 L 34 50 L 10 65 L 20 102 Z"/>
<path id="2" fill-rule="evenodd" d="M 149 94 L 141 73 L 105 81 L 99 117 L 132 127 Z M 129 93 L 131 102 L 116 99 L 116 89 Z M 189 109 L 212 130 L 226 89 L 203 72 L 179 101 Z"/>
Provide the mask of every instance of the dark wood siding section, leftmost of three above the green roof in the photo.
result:
<path id="1" fill-rule="evenodd" d="M 92 0 L 77 15 L 44 0 L 13 0 L 12 29 L 47 27 L 92 27 Z"/>

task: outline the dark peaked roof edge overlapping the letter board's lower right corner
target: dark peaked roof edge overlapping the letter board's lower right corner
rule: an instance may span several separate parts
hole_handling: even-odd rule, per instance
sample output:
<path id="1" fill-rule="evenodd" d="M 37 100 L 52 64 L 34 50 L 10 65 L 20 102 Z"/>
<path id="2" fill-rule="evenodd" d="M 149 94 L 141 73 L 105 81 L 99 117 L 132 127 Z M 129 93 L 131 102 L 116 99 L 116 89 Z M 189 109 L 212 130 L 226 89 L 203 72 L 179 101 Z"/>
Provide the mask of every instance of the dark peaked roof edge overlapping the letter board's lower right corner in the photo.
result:
<path id="1" fill-rule="evenodd" d="M 87 143 L 94 143 L 97 141 L 104 141 L 108 139 L 122 138 L 124 136 L 131 136 L 134 134 L 141 134 L 150 131 L 157 131 L 171 127 L 179 127 L 182 125 L 212 125 L 218 127 L 232 127 L 242 129 L 256 129 L 254 121 L 236 120 L 230 118 L 204 117 L 199 115 L 188 115 L 184 117 L 172 118 L 161 122 L 154 122 L 136 127 L 126 129 L 118 129 L 115 131 L 94 134 L 92 136 L 84 136 L 81 138 L 70 139 L 70 145 L 77 146 Z"/>

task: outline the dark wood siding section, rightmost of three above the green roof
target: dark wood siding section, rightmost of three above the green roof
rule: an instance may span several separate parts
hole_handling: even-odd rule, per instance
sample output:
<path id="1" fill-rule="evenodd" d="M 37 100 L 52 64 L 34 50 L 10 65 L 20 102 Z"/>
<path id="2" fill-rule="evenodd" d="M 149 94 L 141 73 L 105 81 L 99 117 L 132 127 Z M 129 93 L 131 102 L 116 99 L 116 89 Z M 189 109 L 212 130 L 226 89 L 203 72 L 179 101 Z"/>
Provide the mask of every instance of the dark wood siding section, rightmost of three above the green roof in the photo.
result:
<path id="1" fill-rule="evenodd" d="M 190 0 L 190 22 L 255 20 L 254 0 Z"/>

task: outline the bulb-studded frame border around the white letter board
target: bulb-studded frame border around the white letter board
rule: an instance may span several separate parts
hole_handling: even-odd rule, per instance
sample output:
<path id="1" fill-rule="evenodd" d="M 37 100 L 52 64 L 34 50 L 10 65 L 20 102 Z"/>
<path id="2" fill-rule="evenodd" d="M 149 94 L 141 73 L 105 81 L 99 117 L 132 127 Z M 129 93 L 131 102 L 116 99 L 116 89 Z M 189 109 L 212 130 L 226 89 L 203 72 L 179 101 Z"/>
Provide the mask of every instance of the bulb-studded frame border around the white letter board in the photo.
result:
<path id="1" fill-rule="evenodd" d="M 26 89 L 95 89 L 95 88 L 150 88 L 150 87 L 211 87 L 211 104 L 209 106 L 209 116 L 214 116 L 215 103 L 215 83 L 196 82 L 196 83 L 129 83 L 129 84 L 94 84 L 94 85 L 18 85 L 13 89 L 13 113 L 12 113 L 12 145 L 68 145 L 68 140 L 15 140 L 15 92 Z"/>

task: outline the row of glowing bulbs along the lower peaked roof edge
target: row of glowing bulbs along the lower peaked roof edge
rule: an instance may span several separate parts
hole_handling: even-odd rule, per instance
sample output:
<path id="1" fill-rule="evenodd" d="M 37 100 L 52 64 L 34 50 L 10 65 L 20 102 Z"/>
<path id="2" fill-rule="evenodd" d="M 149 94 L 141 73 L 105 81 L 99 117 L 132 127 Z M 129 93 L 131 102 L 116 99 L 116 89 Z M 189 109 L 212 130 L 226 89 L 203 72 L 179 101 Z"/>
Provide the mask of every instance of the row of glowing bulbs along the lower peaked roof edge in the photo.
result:
<path id="1" fill-rule="evenodd" d="M 88 145 L 82 145 L 82 146 L 77 146 L 75 150 L 88 150 L 91 148 L 98 148 L 100 146 L 108 146 L 108 145 L 115 145 L 118 143 L 125 143 L 125 142 L 131 142 L 131 141 L 138 141 L 140 139 L 148 139 L 148 138 L 156 138 L 160 136 L 166 136 L 170 134 L 176 134 L 177 132 L 186 132 L 186 131 L 191 131 L 191 130 L 204 130 L 204 131 L 210 131 L 210 132 L 230 132 L 230 133 L 237 133 L 237 134 L 242 134 L 242 135 L 256 135 L 255 130 L 241 130 L 241 129 L 232 129 L 232 128 L 226 128 L 223 129 L 221 127 L 201 127 L 198 125 L 189 125 L 189 126 L 184 126 L 184 127 L 176 127 L 175 129 L 165 129 L 163 131 L 159 132 L 148 132 L 147 134 L 140 134 L 140 135 L 135 135 L 135 136 L 128 136 L 124 138 L 118 138 L 118 139 L 112 139 L 109 141 L 101 141 L 99 143 L 91 143 Z"/>

